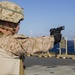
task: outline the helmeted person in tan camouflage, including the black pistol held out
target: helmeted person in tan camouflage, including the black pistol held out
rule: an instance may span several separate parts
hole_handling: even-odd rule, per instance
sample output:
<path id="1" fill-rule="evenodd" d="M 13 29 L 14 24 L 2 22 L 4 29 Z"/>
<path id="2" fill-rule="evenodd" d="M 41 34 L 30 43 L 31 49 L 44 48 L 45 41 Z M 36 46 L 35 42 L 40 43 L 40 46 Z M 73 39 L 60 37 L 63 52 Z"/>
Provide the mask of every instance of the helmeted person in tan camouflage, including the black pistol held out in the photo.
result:
<path id="1" fill-rule="evenodd" d="M 27 37 L 18 34 L 23 9 L 13 2 L 0 2 L 0 74 L 24 75 L 22 57 L 46 52 L 61 41 L 64 26 L 52 28 L 50 36 Z"/>

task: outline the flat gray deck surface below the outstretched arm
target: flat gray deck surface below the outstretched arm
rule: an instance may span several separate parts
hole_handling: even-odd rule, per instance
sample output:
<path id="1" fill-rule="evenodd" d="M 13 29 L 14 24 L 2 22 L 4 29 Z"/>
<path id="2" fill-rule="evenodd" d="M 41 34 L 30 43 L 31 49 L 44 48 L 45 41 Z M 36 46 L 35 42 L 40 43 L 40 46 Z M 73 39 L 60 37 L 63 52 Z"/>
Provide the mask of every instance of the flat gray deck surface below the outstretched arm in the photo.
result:
<path id="1" fill-rule="evenodd" d="M 25 75 L 75 75 L 75 60 L 26 57 Z"/>

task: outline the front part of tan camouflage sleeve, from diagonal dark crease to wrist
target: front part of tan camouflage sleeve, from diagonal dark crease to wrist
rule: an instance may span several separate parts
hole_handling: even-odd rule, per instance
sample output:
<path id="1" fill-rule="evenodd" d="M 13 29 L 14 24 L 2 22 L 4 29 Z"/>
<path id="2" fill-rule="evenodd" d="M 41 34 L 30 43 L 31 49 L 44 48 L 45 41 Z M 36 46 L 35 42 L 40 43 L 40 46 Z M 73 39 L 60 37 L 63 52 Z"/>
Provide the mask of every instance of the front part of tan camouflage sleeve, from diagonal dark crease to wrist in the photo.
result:
<path id="1" fill-rule="evenodd" d="M 54 37 L 44 36 L 36 38 L 19 39 L 26 53 L 46 52 L 54 47 Z"/>

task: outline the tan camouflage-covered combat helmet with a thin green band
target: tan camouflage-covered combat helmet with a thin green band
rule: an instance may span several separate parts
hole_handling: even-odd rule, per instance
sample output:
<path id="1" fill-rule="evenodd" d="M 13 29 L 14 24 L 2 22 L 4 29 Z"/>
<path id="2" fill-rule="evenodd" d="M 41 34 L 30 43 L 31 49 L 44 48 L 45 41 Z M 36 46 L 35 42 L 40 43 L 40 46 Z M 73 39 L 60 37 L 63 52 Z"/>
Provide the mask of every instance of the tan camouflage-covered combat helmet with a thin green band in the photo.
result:
<path id="1" fill-rule="evenodd" d="M 15 3 L 0 2 L 0 20 L 18 23 L 24 19 L 23 9 Z"/>

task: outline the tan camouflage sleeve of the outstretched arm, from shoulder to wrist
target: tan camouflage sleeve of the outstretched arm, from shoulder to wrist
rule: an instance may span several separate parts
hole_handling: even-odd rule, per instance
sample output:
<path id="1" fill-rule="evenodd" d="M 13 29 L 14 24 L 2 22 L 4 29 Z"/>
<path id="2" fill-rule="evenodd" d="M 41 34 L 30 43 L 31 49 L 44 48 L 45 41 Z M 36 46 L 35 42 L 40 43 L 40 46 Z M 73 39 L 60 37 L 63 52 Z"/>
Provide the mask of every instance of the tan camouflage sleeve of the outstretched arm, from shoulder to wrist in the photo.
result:
<path id="1" fill-rule="evenodd" d="M 0 38 L 0 48 L 9 55 L 34 54 L 35 52 L 46 52 L 54 46 L 54 38 L 44 37 L 15 37 L 3 36 Z"/>

